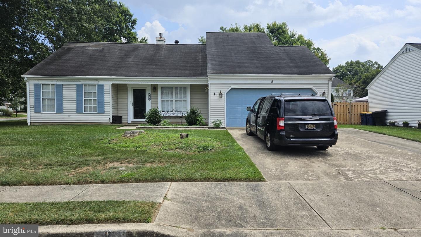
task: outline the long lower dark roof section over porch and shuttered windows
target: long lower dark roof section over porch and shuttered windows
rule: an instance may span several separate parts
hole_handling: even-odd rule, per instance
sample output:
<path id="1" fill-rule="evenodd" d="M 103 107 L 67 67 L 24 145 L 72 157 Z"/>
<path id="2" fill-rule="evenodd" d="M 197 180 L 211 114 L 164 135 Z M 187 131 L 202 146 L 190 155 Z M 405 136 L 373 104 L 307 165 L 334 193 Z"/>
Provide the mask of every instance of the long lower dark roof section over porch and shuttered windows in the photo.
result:
<path id="1" fill-rule="evenodd" d="M 70 42 L 24 75 L 206 77 L 206 46 Z"/>

